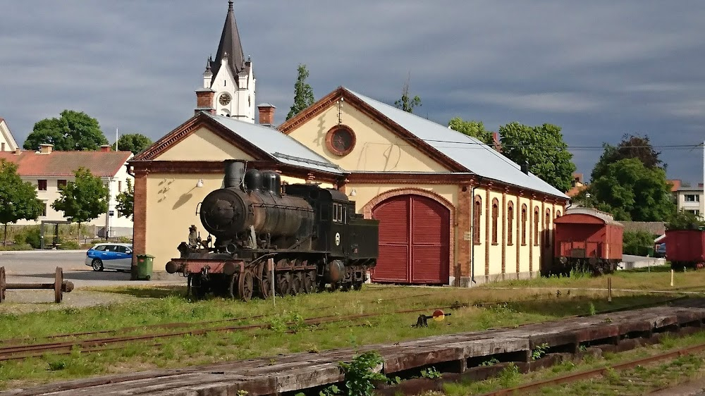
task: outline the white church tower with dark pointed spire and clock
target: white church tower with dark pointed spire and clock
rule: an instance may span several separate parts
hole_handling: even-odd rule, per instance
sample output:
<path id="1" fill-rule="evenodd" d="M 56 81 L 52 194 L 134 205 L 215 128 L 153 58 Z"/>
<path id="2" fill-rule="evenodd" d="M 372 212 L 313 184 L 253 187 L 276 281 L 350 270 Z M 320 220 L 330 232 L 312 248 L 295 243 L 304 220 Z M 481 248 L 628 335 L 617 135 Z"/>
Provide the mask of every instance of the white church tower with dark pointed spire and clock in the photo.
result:
<path id="1" fill-rule="evenodd" d="M 212 111 L 219 116 L 255 123 L 255 73 L 252 61 L 243 53 L 233 1 L 223 25 L 216 58 L 209 56 L 203 73 L 203 87 L 196 90 L 196 111 Z"/>

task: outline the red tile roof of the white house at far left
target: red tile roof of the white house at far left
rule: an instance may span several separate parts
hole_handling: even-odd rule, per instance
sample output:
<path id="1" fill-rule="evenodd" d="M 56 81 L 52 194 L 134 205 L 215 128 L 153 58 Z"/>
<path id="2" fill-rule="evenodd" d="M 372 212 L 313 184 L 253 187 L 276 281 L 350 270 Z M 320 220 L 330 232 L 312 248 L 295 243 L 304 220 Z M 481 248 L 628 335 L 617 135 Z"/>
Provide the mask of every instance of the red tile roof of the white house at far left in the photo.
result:
<path id="1" fill-rule="evenodd" d="M 0 159 L 17 164 L 20 176 L 72 176 L 81 166 L 96 176 L 114 176 L 130 158 L 130 151 L 0 151 Z"/>

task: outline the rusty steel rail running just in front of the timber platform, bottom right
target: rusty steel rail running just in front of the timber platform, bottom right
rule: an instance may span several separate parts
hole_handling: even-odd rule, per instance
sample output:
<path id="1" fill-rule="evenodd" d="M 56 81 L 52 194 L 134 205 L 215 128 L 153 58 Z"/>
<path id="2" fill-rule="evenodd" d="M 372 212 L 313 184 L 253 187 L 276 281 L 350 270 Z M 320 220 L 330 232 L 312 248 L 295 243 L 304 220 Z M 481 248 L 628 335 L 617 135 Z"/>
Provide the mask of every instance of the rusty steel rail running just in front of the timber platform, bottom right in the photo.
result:
<path id="1" fill-rule="evenodd" d="M 665 352 L 662 354 L 657 354 L 651 357 L 644 357 L 641 359 L 635 359 L 632 361 L 627 361 L 625 363 L 613 364 L 612 366 L 601 367 L 599 369 L 580 371 L 579 373 L 566 374 L 565 376 L 560 376 L 556 378 L 550 378 L 547 380 L 535 381 L 532 383 L 527 383 L 525 385 L 515 386 L 514 388 L 504 388 L 501 390 L 495 390 L 493 392 L 488 392 L 482 394 L 482 396 L 501 396 L 501 395 L 512 395 L 514 392 L 522 391 L 522 394 L 529 390 L 539 390 L 547 385 L 560 385 L 562 383 L 573 383 L 579 380 L 584 380 L 587 378 L 592 378 L 595 376 L 601 376 L 605 374 L 608 370 L 625 370 L 632 369 L 636 366 L 642 364 L 653 363 L 654 361 L 661 361 L 665 359 L 678 358 L 689 354 L 694 354 L 705 350 L 705 344 L 694 345 L 692 347 L 682 348 L 675 351 Z"/>

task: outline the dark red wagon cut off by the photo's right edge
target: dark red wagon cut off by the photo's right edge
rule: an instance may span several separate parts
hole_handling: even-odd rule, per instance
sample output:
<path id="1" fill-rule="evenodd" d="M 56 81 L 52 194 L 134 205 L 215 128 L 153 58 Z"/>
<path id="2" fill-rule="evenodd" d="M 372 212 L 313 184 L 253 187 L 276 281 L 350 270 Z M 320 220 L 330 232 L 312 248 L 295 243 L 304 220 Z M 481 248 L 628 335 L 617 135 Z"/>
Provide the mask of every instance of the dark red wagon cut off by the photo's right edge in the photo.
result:
<path id="1" fill-rule="evenodd" d="M 666 259 L 670 268 L 702 268 L 705 264 L 704 230 L 666 230 Z"/>

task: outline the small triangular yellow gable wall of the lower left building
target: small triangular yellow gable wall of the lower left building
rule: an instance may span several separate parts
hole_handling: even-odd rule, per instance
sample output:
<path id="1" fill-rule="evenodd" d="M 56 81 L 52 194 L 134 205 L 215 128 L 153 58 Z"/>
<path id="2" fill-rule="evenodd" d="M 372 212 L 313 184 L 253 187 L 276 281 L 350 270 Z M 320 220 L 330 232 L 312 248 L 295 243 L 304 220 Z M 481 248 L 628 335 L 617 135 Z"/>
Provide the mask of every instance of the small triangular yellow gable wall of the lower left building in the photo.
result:
<path id="1" fill-rule="evenodd" d="M 225 159 L 254 160 L 250 154 L 226 142 L 207 128 L 199 128 L 157 156 L 157 161 L 219 161 Z"/>

